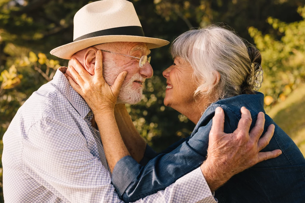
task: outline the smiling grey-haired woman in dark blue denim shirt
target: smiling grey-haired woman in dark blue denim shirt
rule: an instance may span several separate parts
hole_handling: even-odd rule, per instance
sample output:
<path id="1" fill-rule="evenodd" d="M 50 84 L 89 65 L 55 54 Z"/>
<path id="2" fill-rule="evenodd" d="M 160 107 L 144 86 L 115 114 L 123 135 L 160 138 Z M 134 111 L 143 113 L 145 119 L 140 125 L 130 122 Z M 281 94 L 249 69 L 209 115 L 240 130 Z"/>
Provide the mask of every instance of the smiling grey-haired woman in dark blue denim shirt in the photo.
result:
<path id="1" fill-rule="evenodd" d="M 263 74 L 260 52 L 235 33 L 218 26 L 190 30 L 174 40 L 170 51 L 174 64 L 163 72 L 167 79 L 164 104 L 184 114 L 196 127 L 188 138 L 160 154 L 147 147 L 140 163 L 131 156 L 115 162 L 112 182 L 124 201 L 135 201 L 163 190 L 199 167 L 208 156 L 209 132 L 215 111 L 224 113 L 226 133 L 237 128 L 241 107 L 246 107 L 252 115 L 264 112 L 264 95 L 257 92 Z M 80 91 L 79 86 L 76 87 L 71 79 L 69 81 L 79 93 L 101 94 L 99 90 L 103 85 L 95 83 Z M 108 97 L 111 99 L 114 95 Z M 110 100 L 103 96 L 103 101 L 84 99 L 95 108 Z M 113 111 L 114 104 L 109 107 Z M 95 114 L 95 117 L 100 116 L 102 114 Z M 97 119 L 98 126 L 103 119 L 107 118 Z M 289 136 L 266 114 L 265 119 L 264 131 L 271 124 L 275 125 L 275 130 L 263 151 L 281 149 L 283 154 L 232 177 L 215 191 L 219 202 L 304 202 L 305 159 Z M 252 116 L 252 126 L 256 120 L 257 116 Z M 116 139 L 114 137 L 112 142 Z M 116 150 L 108 152 L 105 147 L 109 161 L 112 156 L 107 153 Z M 115 143 L 112 147 L 116 147 Z M 206 150 L 202 150 L 204 148 Z"/>

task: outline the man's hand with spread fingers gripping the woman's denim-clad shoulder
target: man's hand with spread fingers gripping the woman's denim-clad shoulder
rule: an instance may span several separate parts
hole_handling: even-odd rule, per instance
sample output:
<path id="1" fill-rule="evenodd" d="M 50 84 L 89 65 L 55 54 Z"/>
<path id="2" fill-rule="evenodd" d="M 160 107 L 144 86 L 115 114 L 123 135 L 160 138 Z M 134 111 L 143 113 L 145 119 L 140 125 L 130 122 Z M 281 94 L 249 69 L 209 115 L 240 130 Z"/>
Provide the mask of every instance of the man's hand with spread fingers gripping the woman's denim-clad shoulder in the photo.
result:
<path id="1" fill-rule="evenodd" d="M 230 134 L 224 133 L 224 111 L 217 107 L 213 117 L 213 125 L 209 135 L 209 148 L 206 161 L 201 171 L 211 191 L 227 182 L 233 175 L 267 159 L 280 154 L 279 149 L 271 152 L 260 152 L 271 140 L 274 125 L 260 138 L 264 130 L 265 116 L 260 112 L 253 129 L 249 132 L 252 118 L 250 111 L 241 108 L 242 117 L 238 128 Z"/>

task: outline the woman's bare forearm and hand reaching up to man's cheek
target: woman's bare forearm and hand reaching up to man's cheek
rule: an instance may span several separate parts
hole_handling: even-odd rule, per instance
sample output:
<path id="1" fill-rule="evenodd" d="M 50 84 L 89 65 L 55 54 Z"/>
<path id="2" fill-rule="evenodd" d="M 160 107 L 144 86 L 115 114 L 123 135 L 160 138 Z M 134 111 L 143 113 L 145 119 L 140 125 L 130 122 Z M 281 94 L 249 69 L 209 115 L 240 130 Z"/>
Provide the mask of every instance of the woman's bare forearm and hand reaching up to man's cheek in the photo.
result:
<path id="1" fill-rule="evenodd" d="M 72 59 L 77 72 L 73 67 L 69 67 L 74 79 L 68 77 L 68 80 L 74 90 L 84 98 L 95 115 L 95 122 L 101 132 L 105 156 L 112 172 L 117 161 L 130 155 L 121 138 L 114 116 L 114 106 L 127 72 L 121 72 L 114 84 L 109 86 L 103 77 L 102 52 L 98 50 L 95 57 L 94 75 L 90 75 L 84 70 L 77 59 Z"/>

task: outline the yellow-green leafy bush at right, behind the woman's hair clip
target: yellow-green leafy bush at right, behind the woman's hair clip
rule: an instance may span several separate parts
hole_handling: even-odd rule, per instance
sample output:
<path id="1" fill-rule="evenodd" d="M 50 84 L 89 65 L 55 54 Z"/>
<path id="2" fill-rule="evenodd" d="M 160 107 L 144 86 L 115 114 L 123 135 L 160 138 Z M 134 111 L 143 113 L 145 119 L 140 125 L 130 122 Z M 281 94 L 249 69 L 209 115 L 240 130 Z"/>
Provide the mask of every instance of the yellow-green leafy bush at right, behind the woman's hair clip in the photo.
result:
<path id="1" fill-rule="evenodd" d="M 263 35 L 254 27 L 248 29 L 263 56 L 265 81 L 261 91 L 272 96 L 274 101 L 267 102 L 268 105 L 285 100 L 305 79 L 305 7 L 299 7 L 297 11 L 303 17 L 299 22 L 285 23 L 272 17 L 267 19 L 278 30 L 280 40 L 272 34 Z"/>

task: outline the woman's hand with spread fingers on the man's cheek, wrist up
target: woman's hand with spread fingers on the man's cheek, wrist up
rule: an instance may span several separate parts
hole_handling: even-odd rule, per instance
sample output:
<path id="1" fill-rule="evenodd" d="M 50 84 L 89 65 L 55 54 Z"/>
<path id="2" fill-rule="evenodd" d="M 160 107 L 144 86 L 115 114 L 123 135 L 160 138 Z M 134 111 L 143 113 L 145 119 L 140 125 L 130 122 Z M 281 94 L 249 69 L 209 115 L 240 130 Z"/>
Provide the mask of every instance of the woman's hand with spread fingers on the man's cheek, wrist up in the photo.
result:
<path id="1" fill-rule="evenodd" d="M 84 98 L 94 115 L 114 111 L 120 87 L 127 74 L 126 71 L 121 72 L 114 84 L 109 86 L 103 77 L 100 50 L 96 52 L 94 75 L 90 75 L 76 58 L 72 59 L 72 65 L 69 68 L 73 77 L 73 79 L 67 77 L 70 85 Z"/>

